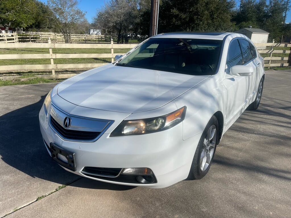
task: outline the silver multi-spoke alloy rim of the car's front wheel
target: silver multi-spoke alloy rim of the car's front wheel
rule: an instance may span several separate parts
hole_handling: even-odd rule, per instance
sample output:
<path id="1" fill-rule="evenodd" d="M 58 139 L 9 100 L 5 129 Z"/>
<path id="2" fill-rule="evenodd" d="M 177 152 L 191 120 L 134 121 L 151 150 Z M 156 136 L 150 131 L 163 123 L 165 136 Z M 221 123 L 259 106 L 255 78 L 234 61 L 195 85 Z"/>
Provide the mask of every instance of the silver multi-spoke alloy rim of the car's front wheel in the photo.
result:
<path id="1" fill-rule="evenodd" d="M 200 155 L 200 170 L 205 171 L 212 160 L 216 145 L 216 126 L 212 125 L 207 131 Z"/>

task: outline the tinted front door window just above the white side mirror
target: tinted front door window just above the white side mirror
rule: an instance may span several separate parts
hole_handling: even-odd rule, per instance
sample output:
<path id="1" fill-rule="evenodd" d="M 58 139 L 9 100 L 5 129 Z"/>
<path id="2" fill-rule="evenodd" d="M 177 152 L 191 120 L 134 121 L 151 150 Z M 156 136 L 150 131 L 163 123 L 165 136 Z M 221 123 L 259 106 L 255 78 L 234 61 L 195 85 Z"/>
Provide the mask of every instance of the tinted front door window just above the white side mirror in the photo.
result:
<path id="1" fill-rule="evenodd" d="M 233 40 L 229 45 L 226 65 L 228 69 L 235 65 L 242 65 L 242 52 L 237 39 Z"/>

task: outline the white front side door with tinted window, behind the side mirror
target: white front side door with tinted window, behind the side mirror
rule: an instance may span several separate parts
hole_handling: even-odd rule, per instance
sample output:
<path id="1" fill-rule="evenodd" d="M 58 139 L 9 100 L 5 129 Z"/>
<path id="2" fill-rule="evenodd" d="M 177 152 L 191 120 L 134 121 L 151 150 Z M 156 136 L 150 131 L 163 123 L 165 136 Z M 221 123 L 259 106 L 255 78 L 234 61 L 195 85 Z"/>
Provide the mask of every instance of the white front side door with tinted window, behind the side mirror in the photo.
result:
<path id="1" fill-rule="evenodd" d="M 223 84 L 227 90 L 226 126 L 230 126 L 243 112 L 242 107 L 248 97 L 249 78 L 247 76 L 234 77 L 229 75 L 230 68 L 243 65 L 242 50 L 237 38 L 233 39 L 228 47 L 225 79 Z"/>

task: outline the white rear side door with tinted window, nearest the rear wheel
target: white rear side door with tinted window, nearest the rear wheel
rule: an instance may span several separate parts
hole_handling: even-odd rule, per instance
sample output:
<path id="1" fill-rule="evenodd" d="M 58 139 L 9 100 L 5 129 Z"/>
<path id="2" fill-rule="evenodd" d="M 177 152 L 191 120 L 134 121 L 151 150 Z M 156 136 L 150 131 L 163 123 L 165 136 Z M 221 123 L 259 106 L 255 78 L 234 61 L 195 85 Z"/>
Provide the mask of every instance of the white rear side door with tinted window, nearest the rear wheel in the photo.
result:
<path id="1" fill-rule="evenodd" d="M 242 49 L 244 65 L 253 67 L 253 75 L 247 77 L 249 85 L 246 90 L 247 91 L 246 103 L 249 103 L 249 101 L 253 99 L 256 93 L 255 84 L 259 73 L 258 68 L 260 67 L 260 62 L 256 58 L 257 57 L 256 53 L 253 53 L 254 49 L 252 48 L 253 45 L 251 45 L 251 43 L 249 43 L 248 40 L 239 38 L 239 44 Z"/>

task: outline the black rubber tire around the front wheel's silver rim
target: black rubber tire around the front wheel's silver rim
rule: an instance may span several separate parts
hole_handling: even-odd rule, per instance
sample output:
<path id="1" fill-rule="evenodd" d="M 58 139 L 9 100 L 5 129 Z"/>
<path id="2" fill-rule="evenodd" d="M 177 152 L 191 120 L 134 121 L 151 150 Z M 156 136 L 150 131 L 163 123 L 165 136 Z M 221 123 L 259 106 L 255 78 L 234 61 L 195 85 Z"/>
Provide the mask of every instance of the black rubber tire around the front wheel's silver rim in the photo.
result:
<path id="1" fill-rule="evenodd" d="M 201 158 L 201 152 L 204 149 L 204 139 L 207 136 L 207 132 L 209 131 L 210 127 L 212 126 L 216 127 L 216 135 L 215 135 L 215 146 L 214 146 L 214 150 L 213 150 L 213 155 L 212 158 L 210 160 L 210 163 L 207 167 L 207 169 L 205 169 L 204 171 L 201 170 L 200 168 L 200 158 Z M 215 154 L 215 150 L 216 150 L 216 146 L 217 146 L 217 142 L 218 142 L 218 121 L 217 118 L 215 116 L 212 116 L 211 119 L 209 120 L 208 124 L 205 127 L 205 130 L 203 131 L 201 138 L 199 140 L 198 146 L 196 148 L 195 154 L 194 154 L 194 158 L 192 161 L 192 165 L 190 168 L 190 172 L 189 172 L 189 176 L 188 179 L 194 180 L 194 179 L 202 179 L 207 172 L 210 169 L 210 166 L 212 164 L 212 160 Z"/>

